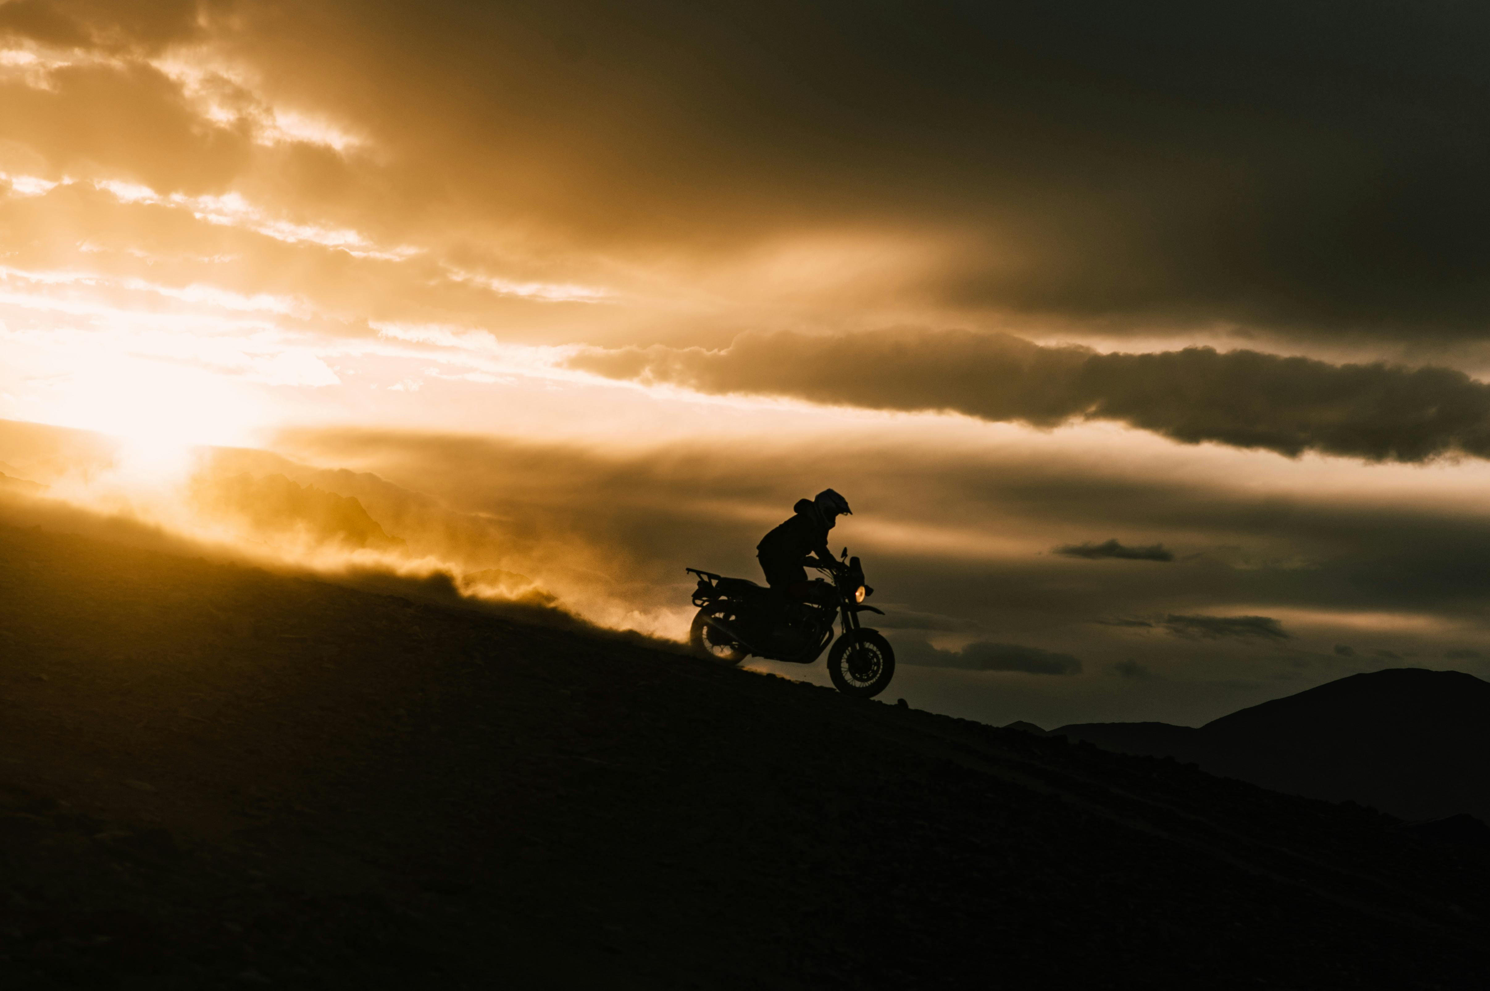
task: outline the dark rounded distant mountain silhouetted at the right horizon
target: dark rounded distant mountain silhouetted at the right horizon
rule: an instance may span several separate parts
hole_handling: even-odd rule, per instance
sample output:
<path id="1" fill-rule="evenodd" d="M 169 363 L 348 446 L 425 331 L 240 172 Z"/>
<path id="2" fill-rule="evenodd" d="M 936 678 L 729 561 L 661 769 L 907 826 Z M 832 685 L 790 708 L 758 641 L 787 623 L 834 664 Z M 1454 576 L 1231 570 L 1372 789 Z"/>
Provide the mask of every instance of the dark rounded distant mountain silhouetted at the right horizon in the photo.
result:
<path id="1" fill-rule="evenodd" d="M 1490 821 L 1490 683 L 1457 671 L 1351 675 L 1199 729 L 1076 723 L 1050 733 L 1405 820 Z"/>

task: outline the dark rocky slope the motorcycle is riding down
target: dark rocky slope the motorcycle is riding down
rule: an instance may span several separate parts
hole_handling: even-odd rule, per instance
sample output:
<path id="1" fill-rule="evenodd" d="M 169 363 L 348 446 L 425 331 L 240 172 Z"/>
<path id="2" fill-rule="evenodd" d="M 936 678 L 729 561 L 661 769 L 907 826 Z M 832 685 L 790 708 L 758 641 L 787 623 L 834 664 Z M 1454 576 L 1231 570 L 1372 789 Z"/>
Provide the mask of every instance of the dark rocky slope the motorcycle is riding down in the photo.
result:
<path id="1" fill-rule="evenodd" d="M 6 988 L 1486 987 L 1490 857 L 1398 826 L 0 528 Z"/>

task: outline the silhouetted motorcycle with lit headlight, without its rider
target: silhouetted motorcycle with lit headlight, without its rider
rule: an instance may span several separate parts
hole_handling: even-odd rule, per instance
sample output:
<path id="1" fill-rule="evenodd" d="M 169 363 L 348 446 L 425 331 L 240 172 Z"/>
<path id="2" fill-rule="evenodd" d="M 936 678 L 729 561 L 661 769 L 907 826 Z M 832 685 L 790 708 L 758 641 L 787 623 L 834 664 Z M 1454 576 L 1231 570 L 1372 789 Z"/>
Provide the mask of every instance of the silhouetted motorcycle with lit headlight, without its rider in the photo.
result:
<path id="1" fill-rule="evenodd" d="M 864 584 L 858 557 L 846 563 L 825 563 L 815 557 L 803 562 L 828 575 L 815 578 L 803 602 L 784 602 L 781 595 L 746 578 L 726 578 L 712 571 L 687 568 L 699 577 L 693 604 L 688 642 L 696 654 L 723 665 L 738 665 L 749 656 L 811 665 L 833 641 L 833 623 L 842 618 L 842 633 L 828 651 L 828 677 L 845 694 L 870 699 L 890 684 L 895 674 L 895 651 L 879 630 L 858 624 L 860 612 L 879 612 L 864 599 L 873 589 Z"/>

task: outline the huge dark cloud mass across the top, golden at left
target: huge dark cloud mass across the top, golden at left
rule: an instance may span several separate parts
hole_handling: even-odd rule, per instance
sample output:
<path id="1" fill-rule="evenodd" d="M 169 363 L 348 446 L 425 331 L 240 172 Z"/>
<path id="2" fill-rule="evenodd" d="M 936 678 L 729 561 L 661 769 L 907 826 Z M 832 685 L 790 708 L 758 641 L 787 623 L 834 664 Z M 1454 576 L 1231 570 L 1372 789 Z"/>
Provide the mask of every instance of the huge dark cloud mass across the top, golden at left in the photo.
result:
<path id="1" fill-rule="evenodd" d="M 791 292 L 849 282 L 878 303 L 1118 332 L 1478 335 L 1490 311 L 1487 149 L 1471 137 L 1490 70 L 1472 4 L 1019 0 L 928 18 L 904 0 L 27 0 L 0 21 L 25 51 L 110 73 L 49 73 L 97 106 L 77 119 L 46 104 L 92 142 L 22 137 L 54 164 L 128 164 L 162 191 L 173 176 L 268 186 L 359 215 L 356 229 L 377 213 L 474 243 L 519 224 L 527 244 L 605 270 L 687 258 L 678 270 L 709 291 L 744 258 L 837 237 L 848 249 L 809 259 Z M 130 77 L 150 60 L 200 72 Z M 110 82 L 156 86 L 212 140 L 195 158 L 177 142 L 152 153 L 185 134 L 162 121 L 125 149 L 149 122 L 119 116 Z M 249 155 L 259 104 L 273 134 L 305 140 Z M 7 109 L 48 130 L 36 107 Z M 367 136 L 377 161 L 337 165 L 338 133 Z M 882 286 L 837 277 L 884 241 L 930 261 Z M 724 288 L 781 303 L 781 282 Z"/>

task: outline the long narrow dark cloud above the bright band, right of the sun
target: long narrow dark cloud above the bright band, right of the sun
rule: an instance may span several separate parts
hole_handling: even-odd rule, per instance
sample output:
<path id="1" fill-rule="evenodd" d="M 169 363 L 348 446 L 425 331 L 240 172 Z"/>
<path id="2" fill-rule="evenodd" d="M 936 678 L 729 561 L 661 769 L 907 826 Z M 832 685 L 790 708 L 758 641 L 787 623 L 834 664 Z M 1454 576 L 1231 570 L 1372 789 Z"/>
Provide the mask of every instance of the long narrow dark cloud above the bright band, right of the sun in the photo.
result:
<path id="1" fill-rule="evenodd" d="M 1490 457 L 1490 386 L 1451 368 L 1253 350 L 1097 353 L 973 331 L 742 334 L 723 350 L 589 349 L 569 365 L 700 392 L 955 411 L 1053 428 L 1116 420 L 1185 443 L 1366 460 Z"/>

